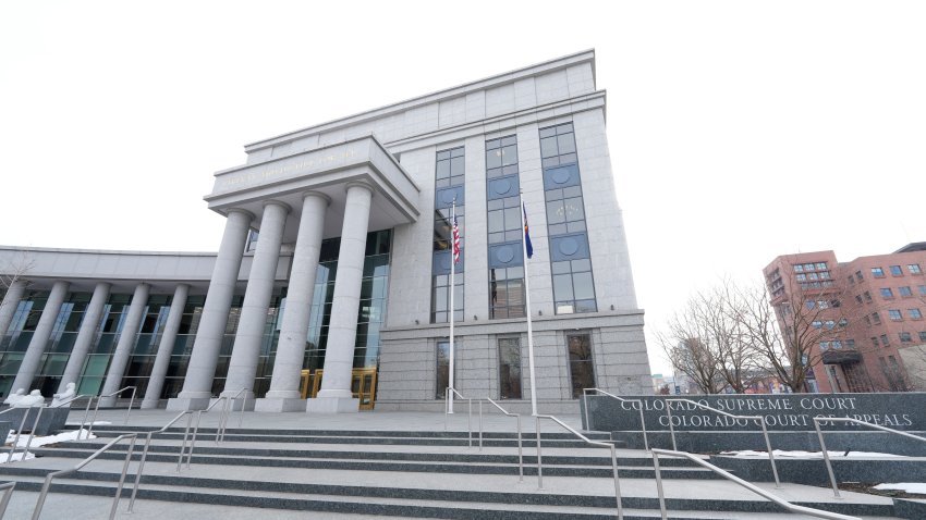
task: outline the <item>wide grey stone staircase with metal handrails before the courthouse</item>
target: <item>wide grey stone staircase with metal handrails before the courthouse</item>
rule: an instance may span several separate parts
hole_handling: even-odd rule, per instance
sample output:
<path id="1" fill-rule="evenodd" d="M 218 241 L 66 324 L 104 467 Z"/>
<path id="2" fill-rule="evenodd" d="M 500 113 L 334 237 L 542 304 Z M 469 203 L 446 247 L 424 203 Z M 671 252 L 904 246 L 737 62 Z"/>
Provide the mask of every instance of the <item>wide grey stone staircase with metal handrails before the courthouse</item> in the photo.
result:
<path id="1" fill-rule="evenodd" d="M 610 450 L 569 432 L 543 430 L 538 475 L 533 431 L 524 433 L 519 458 L 513 428 L 487 431 L 480 443 L 477 431 L 471 434 L 465 424 L 459 428 L 462 418 L 449 431 L 365 431 L 261 428 L 257 414 L 251 416 L 245 416 L 244 428 L 230 425 L 221 442 L 216 438 L 218 428 L 199 429 L 192 456 L 188 435 L 184 444 L 185 428 L 155 435 L 132 513 L 126 509 L 145 434 L 156 428 L 96 425 L 97 438 L 33 448 L 37 458 L 0 465 L 0 482 L 16 482 L 14 497 L 29 497 L 14 499 L 4 518 L 29 518 L 49 472 L 73 468 L 125 433 L 139 434 L 127 469 L 129 441 L 123 441 L 81 471 L 56 479 L 41 518 L 108 518 L 111 500 L 106 497 L 114 495 L 123 470 L 125 486 L 115 518 L 301 518 L 289 516 L 298 512 L 304 518 L 618 518 Z M 357 421 L 362 420 L 363 414 Z M 586 432 L 586 436 L 609 442 L 606 433 Z M 623 518 L 661 518 L 651 455 L 620 447 L 617 455 Z M 692 461 L 662 457 L 659 462 L 668 518 L 813 518 L 785 512 Z M 757 485 L 794 505 L 857 518 L 898 518 L 889 498 L 843 493 L 834 499 L 820 487 Z M 95 516 L 69 513 L 76 507 L 73 504 L 92 498 L 98 508 Z"/>

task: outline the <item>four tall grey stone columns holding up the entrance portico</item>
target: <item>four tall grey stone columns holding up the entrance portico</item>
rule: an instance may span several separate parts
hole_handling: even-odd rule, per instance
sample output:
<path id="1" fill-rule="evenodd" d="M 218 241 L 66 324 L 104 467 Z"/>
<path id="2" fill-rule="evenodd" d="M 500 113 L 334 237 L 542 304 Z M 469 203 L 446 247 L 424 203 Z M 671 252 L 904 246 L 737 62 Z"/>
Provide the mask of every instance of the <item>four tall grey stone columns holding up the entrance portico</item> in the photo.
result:
<path id="1" fill-rule="evenodd" d="M 363 262 L 373 188 L 365 183 L 346 185 L 338 277 L 328 330 L 325 377 L 318 397 L 306 404 L 300 396 L 300 380 L 308 336 L 308 317 L 315 289 L 315 273 L 321 251 L 325 213 L 330 199 L 317 191 L 304 194 L 296 236 L 287 310 L 280 324 L 280 338 L 267 395 L 255 403 L 258 411 L 345 412 L 357 410 L 351 393 L 354 342 L 360 308 Z M 229 373 L 222 396 L 253 396 L 254 380 L 264 339 L 267 310 L 272 296 L 280 245 L 290 208 L 268 201 L 260 218 L 260 238 L 254 253 L 239 327 L 234 338 Z M 193 344 L 183 391 L 168 403 L 168 409 L 194 410 L 209 405 L 222 333 L 231 308 L 231 298 L 244 242 L 254 215 L 243 210 L 229 211 L 222 244 L 209 282 L 209 292 Z"/>

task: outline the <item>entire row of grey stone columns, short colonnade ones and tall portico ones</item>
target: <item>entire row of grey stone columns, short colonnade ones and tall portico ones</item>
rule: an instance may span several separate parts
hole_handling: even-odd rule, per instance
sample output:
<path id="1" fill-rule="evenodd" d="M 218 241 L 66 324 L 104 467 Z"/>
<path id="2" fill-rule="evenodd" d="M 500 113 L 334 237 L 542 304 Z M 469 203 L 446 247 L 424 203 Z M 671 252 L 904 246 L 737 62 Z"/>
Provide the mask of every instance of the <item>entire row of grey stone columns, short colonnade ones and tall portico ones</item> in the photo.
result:
<path id="1" fill-rule="evenodd" d="M 328 348 L 325 377 L 318 397 L 306 404 L 301 399 L 300 381 L 308 335 L 315 276 L 321 250 L 325 213 L 330 199 L 317 191 L 306 193 L 302 200 L 295 250 L 287 293 L 287 310 L 282 318 L 280 338 L 273 364 L 270 389 L 257 399 L 259 411 L 345 412 L 357 410 L 357 399 L 351 392 L 353 352 L 356 337 L 366 234 L 373 200 L 373 188 L 365 183 L 346 185 L 346 203 L 338 256 L 338 276 L 328 330 Z M 229 372 L 222 396 L 240 395 L 242 391 L 253 397 L 254 381 L 264 341 L 270 299 L 273 292 L 280 246 L 291 208 L 279 201 L 268 201 L 260 219 L 260 239 L 248 275 L 237 332 L 234 338 Z M 193 344 L 186 377 L 180 395 L 170 399 L 168 409 L 204 409 L 211 399 L 212 380 L 219 360 L 237 274 L 244 255 L 247 232 L 254 220 L 247 211 L 233 209 L 228 213 L 209 289 L 204 304 L 199 327 Z M 61 305 L 68 294 L 69 283 L 56 282 L 29 342 L 20 371 L 11 388 L 28 391 L 41 362 Z M 25 284 L 16 281 L 8 288 L 0 305 L 0 331 L 5 331 L 16 306 L 24 294 Z M 74 347 L 61 380 L 59 393 L 70 382 L 76 382 L 84 361 L 96 338 L 103 307 L 109 298 L 109 283 L 98 283 L 84 314 Z M 163 389 L 176 333 L 186 305 L 190 286 L 180 284 L 173 295 L 170 311 L 155 358 L 149 383 L 142 403 L 143 408 L 154 408 Z M 136 334 L 145 313 L 150 286 L 139 283 L 132 297 L 123 333 L 113 352 L 100 395 L 100 406 L 112 406 L 119 397 L 122 377 L 134 348 Z M 255 403 L 254 399 L 248 399 Z"/>

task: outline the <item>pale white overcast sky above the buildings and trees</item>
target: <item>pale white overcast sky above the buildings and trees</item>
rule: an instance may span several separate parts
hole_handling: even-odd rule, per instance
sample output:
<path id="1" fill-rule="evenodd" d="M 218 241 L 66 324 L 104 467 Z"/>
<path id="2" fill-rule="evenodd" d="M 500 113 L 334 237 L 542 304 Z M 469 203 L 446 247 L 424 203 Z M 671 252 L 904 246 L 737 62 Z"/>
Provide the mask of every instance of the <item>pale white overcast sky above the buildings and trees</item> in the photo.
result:
<path id="1" fill-rule="evenodd" d="M 926 240 L 924 27 L 922 1 L 7 0 L 0 245 L 214 251 L 243 145 L 594 48 L 665 371 L 655 332 L 720 276 Z"/>

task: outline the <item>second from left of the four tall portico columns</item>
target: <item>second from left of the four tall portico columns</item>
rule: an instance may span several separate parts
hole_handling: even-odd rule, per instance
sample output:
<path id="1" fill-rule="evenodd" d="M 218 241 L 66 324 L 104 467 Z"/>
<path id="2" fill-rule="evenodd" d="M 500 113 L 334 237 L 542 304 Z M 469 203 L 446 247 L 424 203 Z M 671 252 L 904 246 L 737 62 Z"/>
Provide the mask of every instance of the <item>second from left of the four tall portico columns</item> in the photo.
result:
<path id="1" fill-rule="evenodd" d="M 229 360 L 229 374 L 222 392 L 222 395 L 233 396 L 245 388 L 247 392 L 243 395 L 246 395 L 251 404 L 254 403 L 254 375 L 257 372 L 260 345 L 264 343 L 267 309 L 270 307 L 270 297 L 273 296 L 273 278 L 289 212 L 289 206 L 282 202 L 271 200 L 264 203 L 260 237 L 257 239 L 257 250 L 254 252 L 251 274 L 247 276 L 247 289 L 241 306 L 241 319 L 237 322 L 234 348 Z"/>

